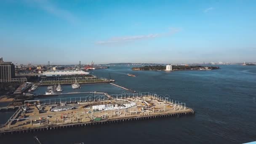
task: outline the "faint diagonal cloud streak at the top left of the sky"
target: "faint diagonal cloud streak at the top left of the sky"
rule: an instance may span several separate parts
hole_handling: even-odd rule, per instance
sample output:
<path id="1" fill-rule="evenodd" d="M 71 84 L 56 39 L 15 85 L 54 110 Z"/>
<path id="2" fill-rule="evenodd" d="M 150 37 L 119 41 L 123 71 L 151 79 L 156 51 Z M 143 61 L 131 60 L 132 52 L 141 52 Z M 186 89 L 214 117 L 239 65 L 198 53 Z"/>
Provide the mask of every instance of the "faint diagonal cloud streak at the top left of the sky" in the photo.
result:
<path id="1" fill-rule="evenodd" d="M 53 16 L 56 16 L 60 19 L 64 19 L 70 23 L 74 24 L 77 22 L 77 18 L 75 16 L 73 16 L 72 13 L 70 13 L 67 10 L 58 8 L 57 6 L 48 2 L 47 0 L 26 0 L 26 2 L 32 6 L 36 6 L 40 9 L 42 9 L 43 11 L 45 11 Z"/>

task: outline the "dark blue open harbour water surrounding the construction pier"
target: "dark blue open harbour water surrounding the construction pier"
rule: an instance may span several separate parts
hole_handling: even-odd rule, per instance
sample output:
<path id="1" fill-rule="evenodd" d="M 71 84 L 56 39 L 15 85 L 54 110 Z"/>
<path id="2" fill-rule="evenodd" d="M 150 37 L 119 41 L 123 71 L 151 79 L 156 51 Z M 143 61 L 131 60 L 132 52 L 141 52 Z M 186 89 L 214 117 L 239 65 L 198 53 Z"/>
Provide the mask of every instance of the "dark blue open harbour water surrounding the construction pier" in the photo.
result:
<path id="1" fill-rule="evenodd" d="M 37 136 L 43 144 L 231 144 L 256 141 L 256 67 L 220 67 L 221 69 L 212 71 L 152 72 L 132 71 L 131 67 L 93 71 L 94 75 L 101 77 L 109 77 L 110 74 L 116 80 L 115 83 L 135 91 L 171 95 L 171 98 L 186 102 L 187 107 L 193 108 L 196 112 L 194 116 L 8 135 L 2 136 L 1 141 L 29 144 L 33 143 L 33 136 Z M 128 77 L 127 73 L 137 77 Z M 91 87 L 94 86 L 100 85 Z M 109 94 L 111 92 L 112 90 Z"/>

